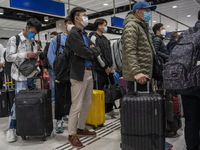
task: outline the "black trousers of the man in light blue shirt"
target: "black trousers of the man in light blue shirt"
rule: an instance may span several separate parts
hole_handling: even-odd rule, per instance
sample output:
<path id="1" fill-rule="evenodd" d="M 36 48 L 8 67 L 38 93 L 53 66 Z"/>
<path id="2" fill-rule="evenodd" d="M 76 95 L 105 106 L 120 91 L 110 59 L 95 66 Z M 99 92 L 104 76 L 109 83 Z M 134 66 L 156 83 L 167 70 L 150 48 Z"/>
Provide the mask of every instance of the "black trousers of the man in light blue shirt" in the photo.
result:
<path id="1" fill-rule="evenodd" d="M 55 83 L 55 119 L 61 120 L 69 115 L 71 107 L 71 84 L 70 81 Z"/>

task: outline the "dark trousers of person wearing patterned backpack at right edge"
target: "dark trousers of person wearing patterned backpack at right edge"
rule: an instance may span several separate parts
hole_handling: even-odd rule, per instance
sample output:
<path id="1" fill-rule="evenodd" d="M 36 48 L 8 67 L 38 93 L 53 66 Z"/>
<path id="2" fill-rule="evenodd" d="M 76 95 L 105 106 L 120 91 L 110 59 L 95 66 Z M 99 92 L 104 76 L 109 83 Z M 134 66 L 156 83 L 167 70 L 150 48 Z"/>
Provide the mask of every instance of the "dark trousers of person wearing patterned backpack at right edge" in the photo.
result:
<path id="1" fill-rule="evenodd" d="M 200 144 L 200 89 L 181 95 L 185 116 L 185 141 L 188 150 L 199 150 Z"/>

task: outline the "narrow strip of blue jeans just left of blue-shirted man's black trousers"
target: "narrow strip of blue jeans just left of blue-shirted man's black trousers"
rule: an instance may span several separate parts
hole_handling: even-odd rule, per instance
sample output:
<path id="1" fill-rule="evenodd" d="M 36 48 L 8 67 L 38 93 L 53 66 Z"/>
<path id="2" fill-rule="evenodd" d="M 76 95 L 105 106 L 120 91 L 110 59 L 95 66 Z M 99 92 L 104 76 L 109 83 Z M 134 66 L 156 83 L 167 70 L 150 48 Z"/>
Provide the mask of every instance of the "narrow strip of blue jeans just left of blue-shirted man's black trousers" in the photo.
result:
<path id="1" fill-rule="evenodd" d="M 55 73 L 52 69 L 48 70 L 50 75 L 50 89 L 51 89 L 51 100 L 55 101 Z"/>

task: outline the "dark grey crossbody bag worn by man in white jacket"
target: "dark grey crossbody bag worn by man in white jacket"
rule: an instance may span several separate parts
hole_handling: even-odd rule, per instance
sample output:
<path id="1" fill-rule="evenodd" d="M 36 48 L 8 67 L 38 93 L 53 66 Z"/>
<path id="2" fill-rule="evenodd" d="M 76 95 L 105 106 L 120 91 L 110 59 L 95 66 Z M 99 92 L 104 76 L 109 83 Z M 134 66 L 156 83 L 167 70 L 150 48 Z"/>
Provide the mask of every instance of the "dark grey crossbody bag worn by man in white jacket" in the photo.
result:
<path id="1" fill-rule="evenodd" d="M 34 73 L 34 75 L 39 71 L 37 67 L 39 66 L 38 60 L 35 58 L 26 59 L 19 67 L 19 71 L 25 76 L 28 77 Z M 34 76 L 33 75 L 33 76 Z"/>

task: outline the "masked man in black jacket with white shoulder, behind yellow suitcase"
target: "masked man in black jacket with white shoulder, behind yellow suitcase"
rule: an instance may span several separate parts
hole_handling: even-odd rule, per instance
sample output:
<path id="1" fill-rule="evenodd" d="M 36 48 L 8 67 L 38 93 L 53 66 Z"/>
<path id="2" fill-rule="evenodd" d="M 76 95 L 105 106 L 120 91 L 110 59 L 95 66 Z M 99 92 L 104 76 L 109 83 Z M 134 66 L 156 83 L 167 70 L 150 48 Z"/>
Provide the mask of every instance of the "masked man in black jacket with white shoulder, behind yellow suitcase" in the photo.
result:
<path id="1" fill-rule="evenodd" d="M 114 83 L 112 66 L 112 53 L 111 53 L 111 47 L 110 47 L 110 41 L 103 35 L 107 32 L 107 21 L 105 19 L 97 19 L 94 22 L 94 28 L 96 32 L 91 32 L 91 41 L 95 43 L 97 47 L 101 49 L 101 59 L 105 63 L 102 64 L 96 61 L 94 63 L 94 70 L 95 70 L 95 77 L 96 82 L 98 83 L 98 87 L 96 87 L 96 84 L 94 85 L 94 88 L 98 88 L 98 90 L 103 90 L 105 84 L 108 84 L 108 77 L 111 80 L 111 83 Z M 114 111 L 113 111 L 113 103 L 106 103 L 105 104 L 105 110 L 106 110 L 106 116 L 107 118 L 114 117 Z"/>

